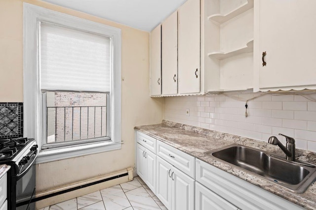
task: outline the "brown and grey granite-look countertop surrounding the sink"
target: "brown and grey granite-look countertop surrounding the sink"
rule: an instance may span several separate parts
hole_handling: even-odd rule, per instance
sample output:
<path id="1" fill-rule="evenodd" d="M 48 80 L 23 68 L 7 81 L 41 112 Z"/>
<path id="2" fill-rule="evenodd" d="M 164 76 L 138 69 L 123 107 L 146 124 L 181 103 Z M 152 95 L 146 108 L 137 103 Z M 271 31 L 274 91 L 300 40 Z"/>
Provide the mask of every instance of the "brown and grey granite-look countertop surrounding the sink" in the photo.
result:
<path id="1" fill-rule="evenodd" d="M 252 140 L 166 120 L 163 120 L 162 124 L 137 126 L 135 129 L 232 175 L 236 175 L 237 177 L 292 203 L 306 209 L 316 209 L 316 184 L 312 184 L 303 194 L 294 193 L 284 187 L 280 187 L 280 185 L 269 182 L 259 176 L 251 175 L 246 171 L 242 171 L 236 167 L 225 164 L 224 162 L 217 161 L 216 159 L 204 154 L 204 152 L 210 150 L 238 143 L 284 156 L 283 151 L 278 146 L 269 144 L 265 141 Z M 296 159 L 316 164 L 316 153 L 296 149 Z"/>

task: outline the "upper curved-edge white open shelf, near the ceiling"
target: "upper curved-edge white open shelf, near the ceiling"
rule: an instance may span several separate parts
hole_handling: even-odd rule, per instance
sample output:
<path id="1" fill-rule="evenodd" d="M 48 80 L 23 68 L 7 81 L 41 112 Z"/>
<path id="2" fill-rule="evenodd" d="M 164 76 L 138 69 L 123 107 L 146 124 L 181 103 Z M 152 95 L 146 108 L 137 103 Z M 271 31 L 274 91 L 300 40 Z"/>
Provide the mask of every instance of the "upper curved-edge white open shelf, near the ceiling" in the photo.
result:
<path id="1" fill-rule="evenodd" d="M 247 2 L 241 4 L 237 8 L 233 9 L 232 11 L 228 12 L 227 14 L 213 14 L 208 16 L 208 20 L 214 21 L 218 24 L 225 23 L 237 17 L 238 15 L 244 13 L 245 11 L 253 8 L 253 0 L 248 0 Z"/>

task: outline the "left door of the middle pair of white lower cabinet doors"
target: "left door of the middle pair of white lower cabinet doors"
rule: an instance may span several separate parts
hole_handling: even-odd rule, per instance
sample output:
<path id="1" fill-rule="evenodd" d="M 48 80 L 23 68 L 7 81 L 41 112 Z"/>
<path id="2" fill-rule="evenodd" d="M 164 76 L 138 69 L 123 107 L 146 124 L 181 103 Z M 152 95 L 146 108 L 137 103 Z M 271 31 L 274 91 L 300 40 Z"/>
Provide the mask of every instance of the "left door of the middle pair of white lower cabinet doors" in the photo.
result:
<path id="1" fill-rule="evenodd" d="M 171 210 L 171 165 L 157 156 L 156 195 Z"/>

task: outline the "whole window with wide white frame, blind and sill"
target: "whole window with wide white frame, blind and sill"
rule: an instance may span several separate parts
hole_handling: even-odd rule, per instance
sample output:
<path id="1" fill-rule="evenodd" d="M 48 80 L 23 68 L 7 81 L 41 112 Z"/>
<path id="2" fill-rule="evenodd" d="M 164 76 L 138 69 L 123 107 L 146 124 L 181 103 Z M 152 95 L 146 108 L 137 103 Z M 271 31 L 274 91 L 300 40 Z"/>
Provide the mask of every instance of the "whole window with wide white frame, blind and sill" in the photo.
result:
<path id="1" fill-rule="evenodd" d="M 120 30 L 23 5 L 24 136 L 37 162 L 119 149 Z"/>

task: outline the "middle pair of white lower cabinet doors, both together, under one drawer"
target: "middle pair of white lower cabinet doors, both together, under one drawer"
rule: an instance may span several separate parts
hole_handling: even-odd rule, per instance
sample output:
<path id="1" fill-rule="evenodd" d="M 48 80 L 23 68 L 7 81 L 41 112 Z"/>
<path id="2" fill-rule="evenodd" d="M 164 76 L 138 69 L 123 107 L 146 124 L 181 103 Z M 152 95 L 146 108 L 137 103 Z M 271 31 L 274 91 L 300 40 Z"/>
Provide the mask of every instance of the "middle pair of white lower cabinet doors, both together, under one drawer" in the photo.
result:
<path id="1" fill-rule="evenodd" d="M 157 157 L 156 195 L 168 210 L 195 209 L 195 180 Z"/>

